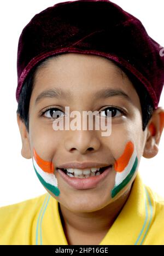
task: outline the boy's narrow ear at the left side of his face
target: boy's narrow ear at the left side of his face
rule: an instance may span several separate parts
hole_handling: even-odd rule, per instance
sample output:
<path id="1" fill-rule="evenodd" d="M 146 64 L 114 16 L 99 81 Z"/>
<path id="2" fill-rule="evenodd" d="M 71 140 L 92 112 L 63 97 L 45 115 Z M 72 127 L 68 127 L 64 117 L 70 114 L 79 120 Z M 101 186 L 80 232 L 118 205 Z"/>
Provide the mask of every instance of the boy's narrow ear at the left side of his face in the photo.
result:
<path id="1" fill-rule="evenodd" d="M 31 148 L 30 148 L 29 134 L 26 129 L 26 125 L 25 125 L 24 121 L 21 120 L 19 114 L 17 114 L 17 124 L 19 126 L 19 131 L 20 131 L 21 140 L 22 140 L 21 155 L 26 159 L 30 159 L 31 158 Z"/>

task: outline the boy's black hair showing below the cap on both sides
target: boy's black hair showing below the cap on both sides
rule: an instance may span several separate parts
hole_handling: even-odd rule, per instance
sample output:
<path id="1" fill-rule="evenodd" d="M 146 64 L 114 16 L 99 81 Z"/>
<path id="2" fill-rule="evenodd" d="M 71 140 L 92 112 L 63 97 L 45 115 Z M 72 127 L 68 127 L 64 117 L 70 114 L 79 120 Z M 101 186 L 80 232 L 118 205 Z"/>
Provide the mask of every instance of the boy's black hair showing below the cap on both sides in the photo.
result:
<path id="1" fill-rule="evenodd" d="M 27 75 L 25 82 L 22 86 L 16 113 L 19 114 L 21 120 L 24 121 L 27 131 L 29 131 L 28 110 L 29 110 L 29 106 L 30 106 L 30 98 L 31 98 L 31 94 L 32 94 L 33 86 L 34 86 L 34 79 L 36 77 L 36 73 L 40 67 L 46 66 L 49 59 L 57 58 L 58 56 L 60 56 L 60 54 L 47 57 L 43 61 L 40 61 L 37 66 L 34 66 L 31 69 L 30 73 Z M 117 66 L 119 66 L 119 65 L 117 65 Z M 131 80 L 131 82 L 139 96 L 140 106 L 142 108 L 142 129 L 144 131 L 147 124 L 149 123 L 149 120 L 150 120 L 152 114 L 153 114 L 153 101 L 151 100 L 151 98 L 148 94 L 148 91 L 147 91 L 147 89 L 145 89 L 143 84 L 138 82 L 138 80 L 130 72 L 126 71 L 122 67 L 121 67 L 121 69 L 122 69 L 122 71 L 124 71 L 124 73 L 127 75 L 127 77 Z"/>

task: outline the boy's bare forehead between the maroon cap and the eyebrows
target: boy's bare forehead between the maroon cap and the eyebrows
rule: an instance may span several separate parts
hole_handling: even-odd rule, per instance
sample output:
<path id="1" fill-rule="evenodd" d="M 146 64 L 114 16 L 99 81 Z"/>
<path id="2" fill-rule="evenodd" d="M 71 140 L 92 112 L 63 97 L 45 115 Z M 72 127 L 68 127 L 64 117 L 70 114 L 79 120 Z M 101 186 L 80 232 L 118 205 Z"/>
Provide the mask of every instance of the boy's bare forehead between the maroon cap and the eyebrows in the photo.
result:
<path id="1" fill-rule="evenodd" d="M 91 96 L 100 89 L 122 89 L 138 97 L 130 79 L 120 67 L 105 57 L 66 53 L 51 57 L 37 69 L 34 92 L 37 96 L 45 90 L 58 88 L 72 96 Z M 138 99 L 137 99 L 138 100 Z"/>

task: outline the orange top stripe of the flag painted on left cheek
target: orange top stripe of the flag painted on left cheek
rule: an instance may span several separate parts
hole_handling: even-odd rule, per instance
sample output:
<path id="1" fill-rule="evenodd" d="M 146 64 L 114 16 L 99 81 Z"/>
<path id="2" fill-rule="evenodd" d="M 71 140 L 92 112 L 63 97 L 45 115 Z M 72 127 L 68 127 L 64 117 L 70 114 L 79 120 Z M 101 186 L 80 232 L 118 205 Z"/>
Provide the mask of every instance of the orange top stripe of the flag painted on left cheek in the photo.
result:
<path id="1" fill-rule="evenodd" d="M 35 149 L 33 149 L 33 156 L 39 167 L 44 172 L 54 173 L 54 165 L 52 164 L 52 162 L 44 161 L 42 158 L 40 158 Z"/>

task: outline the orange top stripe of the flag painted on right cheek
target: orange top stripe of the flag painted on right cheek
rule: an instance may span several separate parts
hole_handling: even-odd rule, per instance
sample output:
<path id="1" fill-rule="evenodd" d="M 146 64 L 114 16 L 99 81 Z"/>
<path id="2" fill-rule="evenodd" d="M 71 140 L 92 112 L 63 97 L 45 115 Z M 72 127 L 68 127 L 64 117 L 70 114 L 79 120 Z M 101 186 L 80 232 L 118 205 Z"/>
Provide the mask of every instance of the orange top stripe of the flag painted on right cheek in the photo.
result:
<path id="1" fill-rule="evenodd" d="M 127 166 L 131 156 L 133 154 L 134 145 L 131 141 L 127 142 L 124 153 L 117 159 L 114 163 L 114 169 L 116 172 L 124 171 L 125 167 Z"/>

